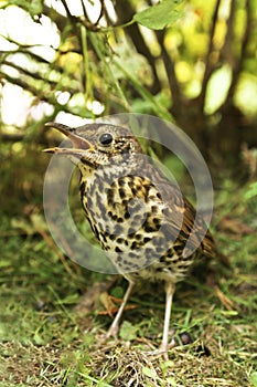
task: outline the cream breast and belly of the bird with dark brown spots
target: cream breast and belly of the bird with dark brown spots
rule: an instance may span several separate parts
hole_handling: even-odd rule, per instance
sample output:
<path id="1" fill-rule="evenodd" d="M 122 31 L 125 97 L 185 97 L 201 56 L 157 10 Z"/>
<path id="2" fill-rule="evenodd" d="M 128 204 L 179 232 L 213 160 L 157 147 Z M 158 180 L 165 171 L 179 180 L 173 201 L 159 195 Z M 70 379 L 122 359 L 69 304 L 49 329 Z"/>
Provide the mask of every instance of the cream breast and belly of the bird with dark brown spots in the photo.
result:
<path id="1" fill-rule="evenodd" d="M 127 279 L 182 280 L 192 258 L 183 258 L 184 245 L 176 241 L 178 230 L 172 229 L 165 203 L 154 187 L 148 188 L 146 198 L 142 191 L 128 187 L 125 191 L 125 182 L 113 184 L 105 191 L 87 187 L 83 196 L 87 219 L 101 248 Z"/>

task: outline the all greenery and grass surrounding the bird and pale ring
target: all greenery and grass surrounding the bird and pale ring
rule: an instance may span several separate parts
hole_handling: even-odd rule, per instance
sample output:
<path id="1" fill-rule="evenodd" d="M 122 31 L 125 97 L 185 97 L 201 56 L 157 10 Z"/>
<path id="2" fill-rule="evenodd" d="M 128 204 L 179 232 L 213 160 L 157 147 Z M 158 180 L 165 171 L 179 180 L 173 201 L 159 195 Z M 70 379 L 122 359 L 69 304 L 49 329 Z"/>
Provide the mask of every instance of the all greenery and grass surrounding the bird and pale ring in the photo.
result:
<path id="1" fill-rule="evenodd" d="M 74 3 L 0 1 L 0 386 L 256 387 L 256 0 Z M 126 281 L 67 259 L 43 217 L 41 150 L 58 142 L 44 124 L 116 113 L 176 123 L 215 182 L 212 229 L 231 268 L 216 268 L 216 285 L 179 285 L 169 362 L 151 355 L 162 290 L 139 289 L 119 341 L 103 344 Z M 183 168 L 154 151 L 193 196 Z M 77 176 L 71 208 L 88 233 Z"/>

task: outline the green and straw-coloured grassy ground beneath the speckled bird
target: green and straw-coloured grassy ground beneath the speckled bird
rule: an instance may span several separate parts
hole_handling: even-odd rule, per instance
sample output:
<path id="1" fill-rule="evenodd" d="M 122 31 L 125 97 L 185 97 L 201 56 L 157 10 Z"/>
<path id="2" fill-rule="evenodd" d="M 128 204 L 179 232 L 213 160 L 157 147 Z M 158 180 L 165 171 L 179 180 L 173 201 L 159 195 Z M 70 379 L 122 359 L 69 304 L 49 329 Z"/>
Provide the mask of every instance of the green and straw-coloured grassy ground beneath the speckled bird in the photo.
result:
<path id="1" fill-rule="evenodd" d="M 151 354 L 162 332 L 160 286 L 133 294 L 119 341 L 103 344 L 111 318 L 98 314 L 99 302 L 85 310 L 83 302 L 90 289 L 99 300 L 113 278 L 62 257 L 64 265 L 40 215 L 40 229 L 32 218 L 2 216 L 0 386 L 256 387 L 257 200 L 249 190 L 228 181 L 216 196 L 215 237 L 232 269 L 218 274 L 222 293 L 193 276 L 178 286 L 171 327 L 193 341 L 171 349 L 169 362 Z M 125 287 L 118 280 L 110 292 Z"/>

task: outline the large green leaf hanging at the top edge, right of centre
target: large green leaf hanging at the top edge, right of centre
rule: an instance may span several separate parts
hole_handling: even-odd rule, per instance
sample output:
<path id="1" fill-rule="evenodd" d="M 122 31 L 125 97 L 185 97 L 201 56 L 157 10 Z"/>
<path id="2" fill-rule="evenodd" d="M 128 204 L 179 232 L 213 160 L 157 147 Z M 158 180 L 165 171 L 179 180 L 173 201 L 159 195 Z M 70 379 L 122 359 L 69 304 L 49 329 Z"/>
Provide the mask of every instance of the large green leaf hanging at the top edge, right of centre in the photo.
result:
<path id="1" fill-rule="evenodd" d="M 173 24 L 182 14 L 179 6 L 183 0 L 162 0 L 157 6 L 152 6 L 133 15 L 133 21 L 151 30 L 162 30 Z"/>

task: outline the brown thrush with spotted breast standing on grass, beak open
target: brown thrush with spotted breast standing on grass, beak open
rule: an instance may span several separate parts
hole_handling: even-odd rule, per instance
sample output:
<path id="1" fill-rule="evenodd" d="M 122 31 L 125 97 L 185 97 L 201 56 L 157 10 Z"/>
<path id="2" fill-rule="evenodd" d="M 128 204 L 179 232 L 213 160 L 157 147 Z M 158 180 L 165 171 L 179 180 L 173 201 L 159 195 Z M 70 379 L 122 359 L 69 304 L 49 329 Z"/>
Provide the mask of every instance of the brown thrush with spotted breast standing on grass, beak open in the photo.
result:
<path id="1" fill-rule="evenodd" d="M 82 206 L 92 231 L 117 272 L 128 280 L 107 337 L 117 336 L 135 283 L 158 281 L 165 290 L 160 353 L 167 358 L 175 284 L 194 261 L 216 255 L 212 234 L 179 187 L 143 153 L 130 128 L 104 123 L 46 126 L 71 139 L 71 148 L 45 151 L 66 155 L 79 168 Z"/>

